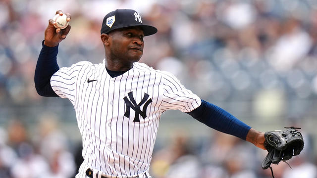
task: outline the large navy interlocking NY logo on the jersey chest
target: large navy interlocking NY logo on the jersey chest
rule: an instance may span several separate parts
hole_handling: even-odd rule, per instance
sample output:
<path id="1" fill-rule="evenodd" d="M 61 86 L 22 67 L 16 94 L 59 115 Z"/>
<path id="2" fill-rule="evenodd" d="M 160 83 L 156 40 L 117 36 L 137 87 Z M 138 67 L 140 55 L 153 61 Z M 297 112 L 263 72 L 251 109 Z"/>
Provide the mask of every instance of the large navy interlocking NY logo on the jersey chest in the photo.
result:
<path id="1" fill-rule="evenodd" d="M 124 116 L 128 118 L 130 116 L 130 109 L 132 108 L 135 111 L 135 116 L 134 116 L 133 122 L 140 122 L 139 115 L 141 115 L 143 119 L 145 119 L 147 117 L 147 108 L 148 108 L 149 104 L 152 102 L 152 99 L 150 98 L 149 100 L 147 100 L 149 98 L 149 94 L 144 93 L 144 96 L 143 96 L 141 102 L 139 104 L 137 104 L 137 102 L 135 102 L 135 99 L 133 98 L 132 91 L 128 93 L 128 96 L 129 96 L 131 101 L 127 98 L 127 96 L 125 96 L 123 98 L 125 105 L 127 106 L 127 110 L 125 111 Z M 143 109 L 141 111 L 140 107 L 142 104 L 144 104 L 144 106 L 143 106 Z"/>

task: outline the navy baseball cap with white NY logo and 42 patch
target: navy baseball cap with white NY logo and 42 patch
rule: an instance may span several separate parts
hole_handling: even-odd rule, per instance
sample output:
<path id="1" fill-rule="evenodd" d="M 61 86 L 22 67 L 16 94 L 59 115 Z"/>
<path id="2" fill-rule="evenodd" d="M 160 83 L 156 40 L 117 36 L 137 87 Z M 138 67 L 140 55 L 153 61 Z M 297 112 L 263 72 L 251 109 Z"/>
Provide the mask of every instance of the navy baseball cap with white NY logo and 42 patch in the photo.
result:
<path id="1" fill-rule="evenodd" d="M 158 32 L 158 29 L 153 26 L 143 25 L 141 15 L 132 9 L 116 9 L 106 14 L 100 32 L 101 34 L 108 34 L 112 30 L 125 27 L 141 27 L 144 36 L 153 35 Z"/>

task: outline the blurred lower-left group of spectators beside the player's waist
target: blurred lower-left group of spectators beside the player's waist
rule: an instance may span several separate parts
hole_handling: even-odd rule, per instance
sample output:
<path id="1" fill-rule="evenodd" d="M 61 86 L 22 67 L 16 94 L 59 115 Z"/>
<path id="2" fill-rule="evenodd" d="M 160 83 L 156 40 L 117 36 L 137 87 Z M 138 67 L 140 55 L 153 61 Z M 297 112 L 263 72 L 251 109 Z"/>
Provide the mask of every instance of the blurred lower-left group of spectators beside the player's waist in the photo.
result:
<path id="1" fill-rule="evenodd" d="M 53 115 L 43 115 L 32 132 L 19 120 L 0 128 L 0 178 L 73 178 L 76 159 Z"/>

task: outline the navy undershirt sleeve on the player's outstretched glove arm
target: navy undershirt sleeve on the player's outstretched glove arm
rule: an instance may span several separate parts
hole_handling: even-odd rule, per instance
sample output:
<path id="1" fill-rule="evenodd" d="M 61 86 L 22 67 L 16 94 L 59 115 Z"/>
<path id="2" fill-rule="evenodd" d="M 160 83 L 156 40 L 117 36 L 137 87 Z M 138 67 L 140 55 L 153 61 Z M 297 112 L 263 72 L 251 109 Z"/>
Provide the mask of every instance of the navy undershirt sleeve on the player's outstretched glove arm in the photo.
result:
<path id="1" fill-rule="evenodd" d="M 251 129 L 222 108 L 202 100 L 202 104 L 187 114 L 217 131 L 246 139 Z"/>

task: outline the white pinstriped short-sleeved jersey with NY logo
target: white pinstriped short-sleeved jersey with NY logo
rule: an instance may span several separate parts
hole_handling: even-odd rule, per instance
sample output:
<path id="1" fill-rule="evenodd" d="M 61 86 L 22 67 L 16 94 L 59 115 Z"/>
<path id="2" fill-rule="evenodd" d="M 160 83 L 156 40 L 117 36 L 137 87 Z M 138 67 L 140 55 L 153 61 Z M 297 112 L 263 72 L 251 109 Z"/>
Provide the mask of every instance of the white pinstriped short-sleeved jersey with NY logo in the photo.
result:
<path id="1" fill-rule="evenodd" d="M 201 99 L 168 72 L 134 63 L 111 77 L 105 64 L 78 62 L 59 69 L 51 78 L 56 94 L 74 105 L 87 168 L 111 178 L 133 178 L 148 172 L 162 112 L 190 112 Z"/>

